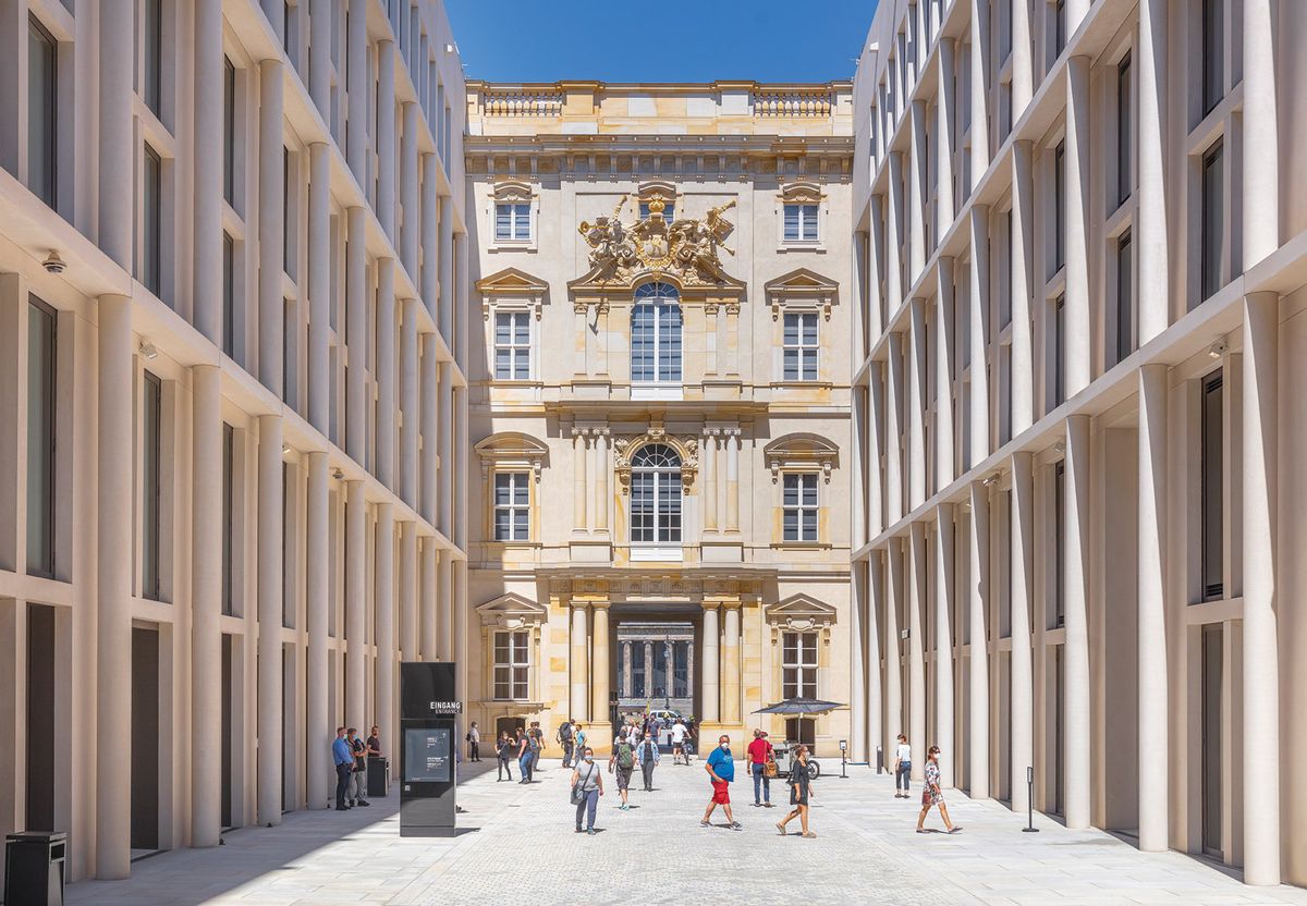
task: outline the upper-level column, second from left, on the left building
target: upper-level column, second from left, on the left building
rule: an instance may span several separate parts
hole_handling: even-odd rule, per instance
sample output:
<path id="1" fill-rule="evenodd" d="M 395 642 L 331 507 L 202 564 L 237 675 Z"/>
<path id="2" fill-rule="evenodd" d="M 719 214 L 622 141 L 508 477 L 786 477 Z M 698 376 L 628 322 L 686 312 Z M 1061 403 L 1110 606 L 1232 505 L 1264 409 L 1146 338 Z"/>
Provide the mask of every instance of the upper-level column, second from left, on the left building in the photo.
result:
<path id="1" fill-rule="evenodd" d="M 192 323 L 222 348 L 222 0 L 195 3 Z M 205 843 L 210 846 L 210 843 Z"/>

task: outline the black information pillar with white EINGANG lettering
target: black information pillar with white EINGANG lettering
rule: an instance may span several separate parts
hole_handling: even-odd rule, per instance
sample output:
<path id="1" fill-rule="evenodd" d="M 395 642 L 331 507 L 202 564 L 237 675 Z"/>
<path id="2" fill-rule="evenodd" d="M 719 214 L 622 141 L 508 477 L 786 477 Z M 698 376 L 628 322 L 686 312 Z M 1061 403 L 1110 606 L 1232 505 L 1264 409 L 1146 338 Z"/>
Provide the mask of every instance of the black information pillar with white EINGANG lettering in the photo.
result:
<path id="1" fill-rule="evenodd" d="M 463 703 L 452 663 L 400 664 L 400 837 L 454 837 L 455 719 Z"/>

